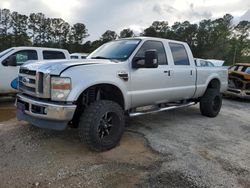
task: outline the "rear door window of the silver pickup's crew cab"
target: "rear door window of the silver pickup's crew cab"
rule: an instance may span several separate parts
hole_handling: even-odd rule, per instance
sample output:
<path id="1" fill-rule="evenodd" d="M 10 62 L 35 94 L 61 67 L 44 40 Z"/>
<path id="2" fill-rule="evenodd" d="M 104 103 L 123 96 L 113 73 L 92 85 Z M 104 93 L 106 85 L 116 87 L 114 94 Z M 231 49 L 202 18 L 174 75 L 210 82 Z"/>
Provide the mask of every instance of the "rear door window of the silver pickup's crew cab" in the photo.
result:
<path id="1" fill-rule="evenodd" d="M 190 65 L 187 51 L 182 44 L 177 44 L 177 43 L 169 43 L 173 59 L 174 59 L 174 64 L 175 65 Z"/>

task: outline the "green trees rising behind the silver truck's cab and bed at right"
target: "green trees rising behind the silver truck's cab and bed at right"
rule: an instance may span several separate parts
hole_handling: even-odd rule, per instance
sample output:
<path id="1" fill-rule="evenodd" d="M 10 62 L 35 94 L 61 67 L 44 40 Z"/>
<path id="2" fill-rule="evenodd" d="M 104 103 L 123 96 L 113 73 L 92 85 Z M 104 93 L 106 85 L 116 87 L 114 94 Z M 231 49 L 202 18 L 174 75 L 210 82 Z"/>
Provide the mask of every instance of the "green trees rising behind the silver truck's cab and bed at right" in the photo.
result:
<path id="1" fill-rule="evenodd" d="M 250 22 L 232 24 L 233 17 L 226 14 L 215 20 L 202 20 L 191 24 L 176 22 L 171 27 L 167 22 L 155 21 L 142 36 L 161 37 L 185 41 L 195 57 L 225 60 L 226 65 L 250 62 Z"/>

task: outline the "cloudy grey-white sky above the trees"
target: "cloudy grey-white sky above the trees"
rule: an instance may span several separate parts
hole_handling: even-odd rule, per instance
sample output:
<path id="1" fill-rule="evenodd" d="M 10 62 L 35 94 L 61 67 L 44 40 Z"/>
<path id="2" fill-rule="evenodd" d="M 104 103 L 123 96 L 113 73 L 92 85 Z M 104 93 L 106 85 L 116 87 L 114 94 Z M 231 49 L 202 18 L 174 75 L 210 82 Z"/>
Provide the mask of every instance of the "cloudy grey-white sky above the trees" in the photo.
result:
<path id="1" fill-rule="evenodd" d="M 139 33 L 155 20 L 170 25 L 185 20 L 198 23 L 229 13 L 236 20 L 244 17 L 250 21 L 249 0 L 0 0 L 3 8 L 84 23 L 90 34 L 87 40 L 98 39 L 106 30 L 119 33 L 131 28 Z"/>

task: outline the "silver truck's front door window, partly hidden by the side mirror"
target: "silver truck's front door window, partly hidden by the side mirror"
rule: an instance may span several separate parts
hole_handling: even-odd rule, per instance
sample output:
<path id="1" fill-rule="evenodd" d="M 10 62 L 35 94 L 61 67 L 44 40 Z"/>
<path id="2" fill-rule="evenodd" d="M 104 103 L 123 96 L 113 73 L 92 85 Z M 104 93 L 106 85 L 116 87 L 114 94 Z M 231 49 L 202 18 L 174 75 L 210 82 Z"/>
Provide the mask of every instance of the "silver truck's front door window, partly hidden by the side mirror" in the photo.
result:
<path id="1" fill-rule="evenodd" d="M 159 65 L 167 65 L 167 57 L 164 46 L 162 42 L 159 41 L 146 41 L 141 46 L 135 57 L 145 57 L 145 52 L 147 50 L 156 50 L 158 53 L 158 63 Z"/>

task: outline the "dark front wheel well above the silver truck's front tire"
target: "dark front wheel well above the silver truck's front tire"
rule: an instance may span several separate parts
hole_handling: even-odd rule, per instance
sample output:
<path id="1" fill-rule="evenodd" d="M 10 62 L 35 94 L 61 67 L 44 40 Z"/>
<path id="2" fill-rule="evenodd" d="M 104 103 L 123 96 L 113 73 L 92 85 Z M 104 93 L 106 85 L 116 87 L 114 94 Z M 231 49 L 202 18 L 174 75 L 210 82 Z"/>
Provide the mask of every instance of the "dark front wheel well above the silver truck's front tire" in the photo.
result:
<path id="1" fill-rule="evenodd" d="M 121 90 L 112 84 L 98 84 L 85 89 L 76 101 L 76 111 L 71 121 L 72 127 L 77 127 L 84 109 L 97 100 L 111 100 L 125 108 Z"/>

